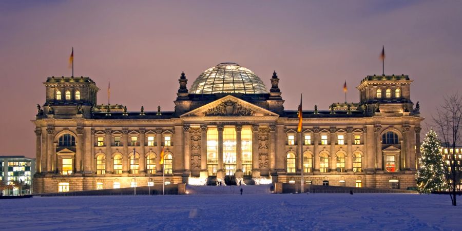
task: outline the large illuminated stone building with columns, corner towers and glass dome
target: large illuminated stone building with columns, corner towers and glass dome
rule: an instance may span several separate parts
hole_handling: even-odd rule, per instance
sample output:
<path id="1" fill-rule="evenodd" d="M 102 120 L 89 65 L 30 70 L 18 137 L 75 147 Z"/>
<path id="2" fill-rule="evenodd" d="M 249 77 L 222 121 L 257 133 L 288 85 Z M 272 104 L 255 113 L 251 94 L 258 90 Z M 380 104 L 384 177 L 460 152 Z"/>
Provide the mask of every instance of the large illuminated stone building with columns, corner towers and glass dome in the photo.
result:
<path id="1" fill-rule="evenodd" d="M 97 105 L 90 78 L 48 78 L 33 121 L 35 191 L 162 184 L 162 171 L 168 183 L 227 175 L 296 183 L 303 170 L 307 184 L 415 186 L 423 118 L 407 75 L 367 76 L 358 103 L 303 111 L 302 138 L 276 72 L 269 90 L 234 63 L 206 70 L 189 90 L 187 81 L 182 73 L 175 111 L 148 112 Z"/>

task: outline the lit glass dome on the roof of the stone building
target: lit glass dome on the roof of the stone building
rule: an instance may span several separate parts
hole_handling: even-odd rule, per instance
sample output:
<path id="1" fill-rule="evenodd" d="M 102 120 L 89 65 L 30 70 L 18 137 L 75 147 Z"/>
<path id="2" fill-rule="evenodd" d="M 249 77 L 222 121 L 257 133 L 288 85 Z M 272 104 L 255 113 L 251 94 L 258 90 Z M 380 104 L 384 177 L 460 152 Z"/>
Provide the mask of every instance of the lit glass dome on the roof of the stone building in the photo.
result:
<path id="1" fill-rule="evenodd" d="M 220 63 L 205 70 L 192 83 L 191 94 L 268 93 L 260 78 L 237 63 Z"/>

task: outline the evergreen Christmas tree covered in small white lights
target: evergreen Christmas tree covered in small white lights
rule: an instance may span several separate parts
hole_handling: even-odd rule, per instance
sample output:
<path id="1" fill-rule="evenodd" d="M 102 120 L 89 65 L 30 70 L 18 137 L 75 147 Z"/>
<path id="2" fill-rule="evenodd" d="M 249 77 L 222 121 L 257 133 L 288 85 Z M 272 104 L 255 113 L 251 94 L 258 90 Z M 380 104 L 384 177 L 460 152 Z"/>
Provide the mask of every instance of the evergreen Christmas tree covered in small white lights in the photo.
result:
<path id="1" fill-rule="evenodd" d="M 417 171 L 417 187 L 421 192 L 447 189 L 445 165 L 440 152 L 441 142 L 433 129 L 427 133 L 420 147 L 420 169 Z"/>

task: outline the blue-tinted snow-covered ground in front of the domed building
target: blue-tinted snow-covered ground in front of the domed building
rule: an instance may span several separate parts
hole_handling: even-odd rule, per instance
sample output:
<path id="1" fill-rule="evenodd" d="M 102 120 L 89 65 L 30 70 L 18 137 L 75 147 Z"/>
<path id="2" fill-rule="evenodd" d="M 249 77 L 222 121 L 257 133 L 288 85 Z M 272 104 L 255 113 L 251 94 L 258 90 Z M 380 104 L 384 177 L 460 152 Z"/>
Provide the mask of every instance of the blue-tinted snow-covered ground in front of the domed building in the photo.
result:
<path id="1" fill-rule="evenodd" d="M 462 225 L 462 207 L 451 206 L 447 195 L 244 191 L 243 196 L 34 197 L 0 204 L 4 230 L 460 230 Z"/>

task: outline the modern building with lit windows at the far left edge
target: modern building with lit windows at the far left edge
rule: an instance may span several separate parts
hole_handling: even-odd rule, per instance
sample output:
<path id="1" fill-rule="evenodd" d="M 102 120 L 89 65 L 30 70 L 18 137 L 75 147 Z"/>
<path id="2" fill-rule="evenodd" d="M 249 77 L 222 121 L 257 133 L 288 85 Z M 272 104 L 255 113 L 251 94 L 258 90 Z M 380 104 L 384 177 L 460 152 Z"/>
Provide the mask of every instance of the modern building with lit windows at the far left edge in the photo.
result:
<path id="1" fill-rule="evenodd" d="M 3 195 L 32 194 L 32 178 L 35 174 L 35 159 L 24 156 L 0 156 L 0 180 L 18 187 L 5 189 Z"/>

